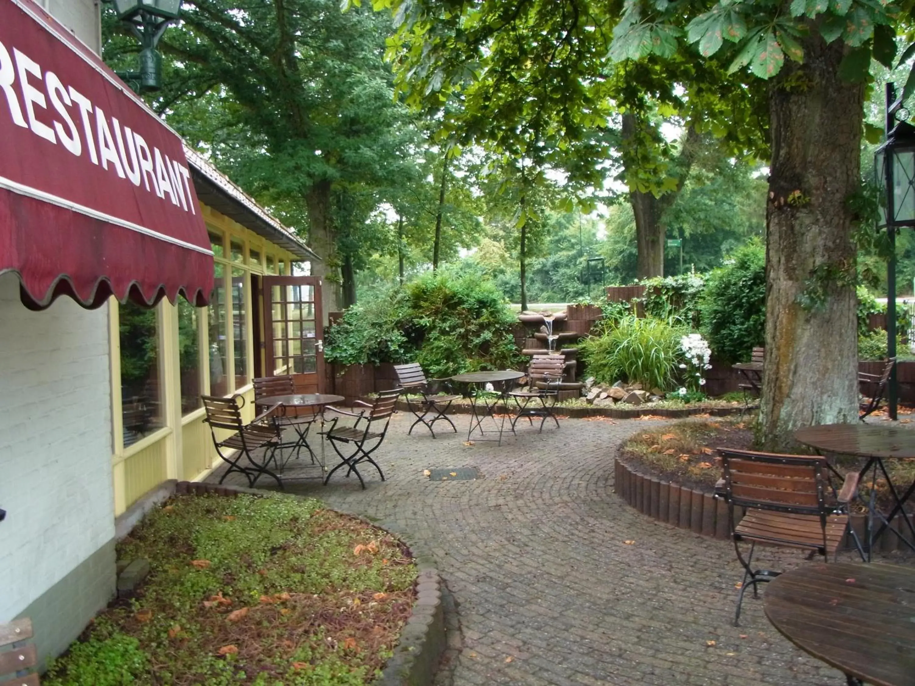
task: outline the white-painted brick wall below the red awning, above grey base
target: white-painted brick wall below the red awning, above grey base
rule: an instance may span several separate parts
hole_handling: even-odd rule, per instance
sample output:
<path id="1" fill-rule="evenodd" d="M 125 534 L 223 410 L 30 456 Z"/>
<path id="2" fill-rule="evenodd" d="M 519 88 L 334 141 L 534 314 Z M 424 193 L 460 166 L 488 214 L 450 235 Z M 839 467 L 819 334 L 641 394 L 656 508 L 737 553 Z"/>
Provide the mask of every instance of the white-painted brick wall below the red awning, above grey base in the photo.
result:
<path id="1" fill-rule="evenodd" d="M 0 275 L 0 623 L 114 535 L 108 308 Z"/>

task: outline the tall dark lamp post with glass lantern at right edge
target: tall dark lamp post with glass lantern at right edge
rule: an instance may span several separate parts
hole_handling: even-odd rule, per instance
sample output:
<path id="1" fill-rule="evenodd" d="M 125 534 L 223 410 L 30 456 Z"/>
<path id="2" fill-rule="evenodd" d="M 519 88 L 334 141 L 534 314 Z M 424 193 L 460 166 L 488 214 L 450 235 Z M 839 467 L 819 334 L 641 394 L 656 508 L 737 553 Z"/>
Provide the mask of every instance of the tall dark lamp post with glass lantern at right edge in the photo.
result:
<path id="1" fill-rule="evenodd" d="M 887 84 L 887 140 L 874 155 L 877 187 L 883 194 L 878 229 L 887 230 L 889 262 L 887 264 L 887 357 L 896 357 L 896 233 L 904 226 L 915 227 L 915 126 L 900 121 L 896 115 L 902 100 L 896 99 L 896 87 Z M 889 418 L 897 418 L 899 385 L 894 367 L 888 383 Z"/>

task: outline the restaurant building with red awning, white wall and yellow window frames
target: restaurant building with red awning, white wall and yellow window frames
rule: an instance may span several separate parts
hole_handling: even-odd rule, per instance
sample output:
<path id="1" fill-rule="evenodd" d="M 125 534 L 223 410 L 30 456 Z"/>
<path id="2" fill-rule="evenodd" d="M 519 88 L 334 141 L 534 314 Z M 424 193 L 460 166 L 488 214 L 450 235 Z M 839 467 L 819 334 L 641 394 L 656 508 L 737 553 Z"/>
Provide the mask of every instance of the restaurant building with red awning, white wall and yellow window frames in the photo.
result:
<path id="1" fill-rule="evenodd" d="M 214 466 L 200 395 L 322 378 L 317 255 L 100 48 L 94 0 L 0 0 L 0 623 L 42 661 L 112 599 L 118 535 Z"/>

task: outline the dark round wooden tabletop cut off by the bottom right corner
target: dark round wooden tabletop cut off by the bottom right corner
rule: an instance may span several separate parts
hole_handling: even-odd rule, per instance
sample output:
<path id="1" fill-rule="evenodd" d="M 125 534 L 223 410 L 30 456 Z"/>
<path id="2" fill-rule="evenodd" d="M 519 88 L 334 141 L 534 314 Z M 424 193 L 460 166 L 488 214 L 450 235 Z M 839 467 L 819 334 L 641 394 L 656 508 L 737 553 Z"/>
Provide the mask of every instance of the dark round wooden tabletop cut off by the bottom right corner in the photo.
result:
<path id="1" fill-rule="evenodd" d="M 915 686 L 915 569 L 807 564 L 773 579 L 762 605 L 785 638 L 849 684 Z"/>

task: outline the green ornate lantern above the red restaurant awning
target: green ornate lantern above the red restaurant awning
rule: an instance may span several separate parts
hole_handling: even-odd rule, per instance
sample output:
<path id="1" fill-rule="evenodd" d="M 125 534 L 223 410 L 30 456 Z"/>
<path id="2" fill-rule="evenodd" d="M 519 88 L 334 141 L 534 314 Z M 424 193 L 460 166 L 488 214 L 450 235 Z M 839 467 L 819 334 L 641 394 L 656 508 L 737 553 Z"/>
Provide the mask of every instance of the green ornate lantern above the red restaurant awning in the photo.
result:
<path id="1" fill-rule="evenodd" d="M 162 83 L 162 56 L 156 52 L 159 38 L 178 19 L 181 0 L 110 0 L 117 13 L 140 41 L 140 70 L 119 74 L 133 81 L 137 91 L 156 91 Z"/>

